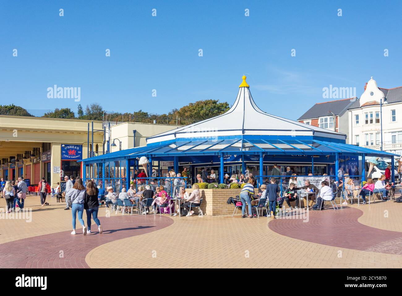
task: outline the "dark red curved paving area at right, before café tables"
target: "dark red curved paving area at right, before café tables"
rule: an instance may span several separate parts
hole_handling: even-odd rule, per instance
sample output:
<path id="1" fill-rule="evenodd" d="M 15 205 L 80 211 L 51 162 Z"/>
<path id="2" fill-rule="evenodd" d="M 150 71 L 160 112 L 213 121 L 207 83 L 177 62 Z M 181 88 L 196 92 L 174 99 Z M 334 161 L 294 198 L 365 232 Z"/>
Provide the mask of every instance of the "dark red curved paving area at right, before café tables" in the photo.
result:
<path id="1" fill-rule="evenodd" d="M 359 223 L 363 211 L 343 207 L 337 211 L 310 211 L 302 219 L 273 219 L 269 228 L 278 234 L 340 248 L 402 255 L 402 233 Z"/>

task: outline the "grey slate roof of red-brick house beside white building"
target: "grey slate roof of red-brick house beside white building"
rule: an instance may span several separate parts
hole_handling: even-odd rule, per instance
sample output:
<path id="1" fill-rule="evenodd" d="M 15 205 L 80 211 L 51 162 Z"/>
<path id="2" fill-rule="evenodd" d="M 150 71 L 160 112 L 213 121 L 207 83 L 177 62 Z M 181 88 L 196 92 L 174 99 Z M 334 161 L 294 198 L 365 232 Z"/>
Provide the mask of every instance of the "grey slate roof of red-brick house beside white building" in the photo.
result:
<path id="1" fill-rule="evenodd" d="M 347 110 L 349 105 L 351 105 L 353 99 L 355 98 L 316 103 L 297 120 L 306 120 L 322 116 L 332 116 L 332 113 L 334 113 L 335 115 L 342 115 Z"/>

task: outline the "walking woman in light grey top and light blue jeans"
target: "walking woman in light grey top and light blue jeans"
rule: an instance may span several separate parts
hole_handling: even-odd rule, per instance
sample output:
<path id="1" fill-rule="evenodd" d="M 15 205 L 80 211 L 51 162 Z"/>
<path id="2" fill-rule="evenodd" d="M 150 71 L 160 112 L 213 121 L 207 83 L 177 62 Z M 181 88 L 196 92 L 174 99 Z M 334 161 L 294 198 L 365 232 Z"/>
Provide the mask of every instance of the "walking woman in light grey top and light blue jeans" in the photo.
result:
<path id="1" fill-rule="evenodd" d="M 72 213 L 72 224 L 73 231 L 71 234 L 76 234 L 76 215 L 78 212 L 78 221 L 80 221 L 82 225 L 82 232 L 86 235 L 86 227 L 84 224 L 84 220 L 82 220 L 82 214 L 84 213 L 84 198 L 85 198 L 85 187 L 82 185 L 82 179 L 77 177 L 76 182 L 74 183 L 73 188 L 69 189 L 66 192 L 66 200 L 69 201 L 71 205 L 71 213 Z M 96 197 L 96 200 L 98 197 Z"/>

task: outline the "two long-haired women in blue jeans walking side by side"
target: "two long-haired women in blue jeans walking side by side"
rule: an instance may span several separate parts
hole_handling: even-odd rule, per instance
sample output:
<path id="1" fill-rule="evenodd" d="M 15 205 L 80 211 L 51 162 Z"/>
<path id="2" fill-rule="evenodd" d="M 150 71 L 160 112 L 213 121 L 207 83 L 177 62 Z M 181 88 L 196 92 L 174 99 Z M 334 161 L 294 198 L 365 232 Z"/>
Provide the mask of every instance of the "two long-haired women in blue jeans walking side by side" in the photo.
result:
<path id="1" fill-rule="evenodd" d="M 91 217 L 93 217 L 94 222 L 98 226 L 99 234 L 102 234 L 102 226 L 100 225 L 100 221 L 98 219 L 98 193 L 99 190 L 95 187 L 92 180 L 88 180 L 86 182 L 85 188 L 82 184 L 81 178 L 76 178 L 74 186 L 66 192 L 66 200 L 70 201 L 71 204 L 73 225 L 73 231 L 71 232 L 71 234 L 76 234 L 75 229 L 77 213 L 78 221 L 80 221 L 80 224 L 82 226 L 82 233 L 84 235 L 86 235 L 87 233 L 91 233 Z M 86 211 L 87 226 L 85 226 L 84 220 L 82 219 L 84 209 Z"/>

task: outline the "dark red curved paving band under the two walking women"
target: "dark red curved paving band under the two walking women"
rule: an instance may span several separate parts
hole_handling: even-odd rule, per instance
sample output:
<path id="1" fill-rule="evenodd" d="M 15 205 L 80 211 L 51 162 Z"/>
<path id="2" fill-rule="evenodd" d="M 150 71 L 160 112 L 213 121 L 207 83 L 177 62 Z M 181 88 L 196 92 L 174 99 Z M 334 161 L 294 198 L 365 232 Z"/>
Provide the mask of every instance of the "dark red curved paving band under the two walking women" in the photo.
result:
<path id="1" fill-rule="evenodd" d="M 71 230 L 69 230 L 0 244 L 0 266 L 2 268 L 88 268 L 85 256 L 93 248 L 114 240 L 154 232 L 173 223 L 169 217 L 154 215 L 102 217 L 99 220 L 103 227 L 103 234 L 99 234 L 96 224 L 92 224 L 92 229 L 96 232 L 86 236 L 82 235 L 82 229 L 79 228 L 76 230 L 76 235 L 70 234 Z M 78 221 L 77 225 L 80 225 Z M 113 253 L 113 250 L 110 250 L 110 253 Z M 108 261 L 107 254 L 105 254 L 105 261 Z"/>

